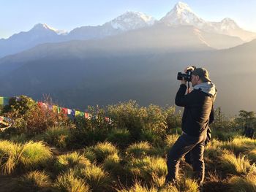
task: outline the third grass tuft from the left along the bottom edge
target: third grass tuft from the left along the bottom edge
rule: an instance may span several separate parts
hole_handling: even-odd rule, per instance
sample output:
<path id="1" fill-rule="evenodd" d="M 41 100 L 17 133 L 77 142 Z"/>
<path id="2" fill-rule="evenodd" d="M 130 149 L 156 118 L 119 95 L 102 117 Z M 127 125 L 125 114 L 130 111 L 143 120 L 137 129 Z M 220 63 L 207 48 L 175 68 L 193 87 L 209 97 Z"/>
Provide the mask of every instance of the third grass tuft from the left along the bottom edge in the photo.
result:
<path id="1" fill-rule="evenodd" d="M 92 191 L 108 191 L 110 189 L 110 176 L 101 167 L 91 165 L 80 169 L 79 176 L 86 180 Z"/>

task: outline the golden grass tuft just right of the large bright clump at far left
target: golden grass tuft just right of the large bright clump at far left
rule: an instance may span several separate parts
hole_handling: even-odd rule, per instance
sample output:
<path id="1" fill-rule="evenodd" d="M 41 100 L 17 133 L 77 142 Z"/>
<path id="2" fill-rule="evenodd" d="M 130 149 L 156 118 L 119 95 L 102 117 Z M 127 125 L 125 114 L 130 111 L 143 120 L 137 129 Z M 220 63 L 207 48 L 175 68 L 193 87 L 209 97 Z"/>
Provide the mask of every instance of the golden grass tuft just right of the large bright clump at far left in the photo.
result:
<path id="1" fill-rule="evenodd" d="M 90 161 L 77 152 L 68 153 L 66 155 L 59 155 L 55 163 L 56 169 L 58 171 L 67 171 L 70 168 L 82 169 L 89 165 L 91 165 Z"/>

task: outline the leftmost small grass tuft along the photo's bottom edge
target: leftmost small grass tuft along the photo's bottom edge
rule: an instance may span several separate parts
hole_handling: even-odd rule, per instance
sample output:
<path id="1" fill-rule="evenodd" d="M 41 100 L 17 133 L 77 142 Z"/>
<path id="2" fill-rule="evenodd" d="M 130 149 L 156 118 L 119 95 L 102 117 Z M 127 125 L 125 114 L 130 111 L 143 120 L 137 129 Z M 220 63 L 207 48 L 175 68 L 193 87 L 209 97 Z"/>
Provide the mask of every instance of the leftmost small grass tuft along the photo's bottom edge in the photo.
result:
<path id="1" fill-rule="evenodd" d="M 29 172 L 25 174 L 22 179 L 22 185 L 25 185 L 34 189 L 34 191 L 38 191 L 39 188 L 45 188 L 49 187 L 51 185 L 50 177 L 45 174 L 45 172 L 39 172 L 39 171 L 34 171 L 34 172 Z"/>

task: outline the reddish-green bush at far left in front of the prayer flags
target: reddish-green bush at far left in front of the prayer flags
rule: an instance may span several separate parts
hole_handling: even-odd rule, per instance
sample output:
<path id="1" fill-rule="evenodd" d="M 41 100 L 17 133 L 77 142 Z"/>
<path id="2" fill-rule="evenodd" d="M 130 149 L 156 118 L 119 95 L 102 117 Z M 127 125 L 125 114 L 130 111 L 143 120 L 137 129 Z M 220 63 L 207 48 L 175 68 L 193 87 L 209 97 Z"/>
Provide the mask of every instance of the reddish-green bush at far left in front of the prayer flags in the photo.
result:
<path id="1" fill-rule="evenodd" d="M 37 102 L 27 96 L 11 98 L 9 105 L 4 107 L 4 116 L 14 120 L 11 134 L 26 133 L 29 137 L 42 133 L 50 126 L 69 123 L 67 115 L 39 107 Z M 10 133 L 7 131 L 7 134 Z"/>

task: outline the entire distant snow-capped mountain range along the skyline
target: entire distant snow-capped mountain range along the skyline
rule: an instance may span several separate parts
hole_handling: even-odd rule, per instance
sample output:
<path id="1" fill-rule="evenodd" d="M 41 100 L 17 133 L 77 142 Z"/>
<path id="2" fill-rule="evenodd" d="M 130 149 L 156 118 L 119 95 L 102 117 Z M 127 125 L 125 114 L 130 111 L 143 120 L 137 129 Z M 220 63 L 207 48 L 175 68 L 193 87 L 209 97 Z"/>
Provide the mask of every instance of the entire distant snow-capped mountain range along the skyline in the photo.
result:
<path id="1" fill-rule="evenodd" d="M 162 25 L 170 28 L 194 26 L 203 34 L 202 37 L 201 35 L 197 37 L 217 49 L 233 47 L 256 38 L 256 33 L 243 30 L 230 18 L 220 22 L 206 21 L 197 16 L 188 4 L 178 2 L 165 17 L 158 21 L 142 12 L 128 11 L 101 26 L 82 26 L 69 33 L 39 23 L 30 31 L 14 34 L 8 39 L 0 39 L 0 58 L 43 43 L 103 39 L 140 28 L 158 28 Z"/>

